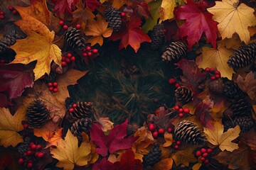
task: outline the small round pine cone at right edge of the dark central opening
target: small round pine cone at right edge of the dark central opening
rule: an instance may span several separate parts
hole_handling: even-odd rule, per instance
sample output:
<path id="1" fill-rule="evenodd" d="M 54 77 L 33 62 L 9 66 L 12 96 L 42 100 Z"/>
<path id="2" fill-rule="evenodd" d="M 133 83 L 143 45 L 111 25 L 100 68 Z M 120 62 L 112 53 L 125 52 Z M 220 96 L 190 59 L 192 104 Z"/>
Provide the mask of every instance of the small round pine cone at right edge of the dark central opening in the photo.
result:
<path id="1" fill-rule="evenodd" d="M 182 104 L 186 104 L 189 101 L 193 100 L 193 92 L 186 88 L 186 86 L 180 86 L 175 91 L 176 101 L 181 102 Z"/>

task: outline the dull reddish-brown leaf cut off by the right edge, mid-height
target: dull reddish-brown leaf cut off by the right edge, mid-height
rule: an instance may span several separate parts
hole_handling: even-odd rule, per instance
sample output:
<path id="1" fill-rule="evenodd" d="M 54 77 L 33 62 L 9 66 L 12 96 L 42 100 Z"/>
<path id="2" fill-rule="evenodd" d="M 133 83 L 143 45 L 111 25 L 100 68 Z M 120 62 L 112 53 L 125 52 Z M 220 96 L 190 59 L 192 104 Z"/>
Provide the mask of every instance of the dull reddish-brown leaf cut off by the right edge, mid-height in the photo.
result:
<path id="1" fill-rule="evenodd" d="M 256 79 L 255 74 L 250 72 L 246 75 L 245 80 L 238 75 L 237 84 L 239 88 L 248 94 L 248 96 L 253 100 L 256 93 Z"/>

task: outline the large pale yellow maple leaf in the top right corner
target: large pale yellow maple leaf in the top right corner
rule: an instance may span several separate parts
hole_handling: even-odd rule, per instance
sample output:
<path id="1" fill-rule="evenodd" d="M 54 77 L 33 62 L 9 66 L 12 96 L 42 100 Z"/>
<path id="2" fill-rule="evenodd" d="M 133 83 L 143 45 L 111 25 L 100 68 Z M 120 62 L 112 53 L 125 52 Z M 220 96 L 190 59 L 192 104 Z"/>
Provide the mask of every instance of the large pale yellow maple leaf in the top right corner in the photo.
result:
<path id="1" fill-rule="evenodd" d="M 216 1 L 215 6 L 207 10 L 213 14 L 213 20 L 218 22 L 218 30 L 222 38 L 232 38 L 238 33 L 240 39 L 246 44 L 250 41 L 248 26 L 256 26 L 254 9 L 239 4 L 239 0 Z"/>

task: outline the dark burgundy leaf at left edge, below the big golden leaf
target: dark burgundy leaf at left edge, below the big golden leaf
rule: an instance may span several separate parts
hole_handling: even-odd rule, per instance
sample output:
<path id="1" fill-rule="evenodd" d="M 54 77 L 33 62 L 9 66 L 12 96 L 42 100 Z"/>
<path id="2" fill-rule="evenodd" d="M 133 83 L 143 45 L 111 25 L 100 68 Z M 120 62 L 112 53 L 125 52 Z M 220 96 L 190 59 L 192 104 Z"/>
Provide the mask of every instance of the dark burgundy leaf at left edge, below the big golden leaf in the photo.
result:
<path id="1" fill-rule="evenodd" d="M 26 87 L 33 86 L 31 67 L 23 64 L 0 64 L 0 91 L 8 91 L 9 98 L 21 96 Z"/>

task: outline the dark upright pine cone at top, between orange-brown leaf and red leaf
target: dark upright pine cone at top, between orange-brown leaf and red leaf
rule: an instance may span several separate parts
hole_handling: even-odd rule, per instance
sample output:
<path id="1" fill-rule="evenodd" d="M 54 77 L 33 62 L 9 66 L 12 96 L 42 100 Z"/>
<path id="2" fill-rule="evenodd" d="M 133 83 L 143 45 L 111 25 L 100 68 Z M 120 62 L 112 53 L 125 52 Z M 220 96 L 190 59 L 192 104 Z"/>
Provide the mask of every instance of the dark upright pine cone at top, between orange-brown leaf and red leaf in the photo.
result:
<path id="1" fill-rule="evenodd" d="M 105 17 L 107 18 L 108 26 L 113 28 L 114 32 L 121 29 L 122 18 L 121 12 L 118 9 L 113 8 L 112 6 L 107 6 L 105 9 Z"/>

